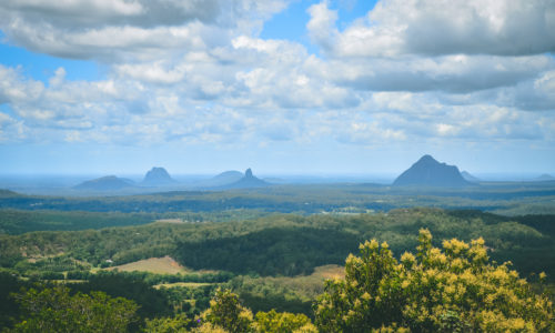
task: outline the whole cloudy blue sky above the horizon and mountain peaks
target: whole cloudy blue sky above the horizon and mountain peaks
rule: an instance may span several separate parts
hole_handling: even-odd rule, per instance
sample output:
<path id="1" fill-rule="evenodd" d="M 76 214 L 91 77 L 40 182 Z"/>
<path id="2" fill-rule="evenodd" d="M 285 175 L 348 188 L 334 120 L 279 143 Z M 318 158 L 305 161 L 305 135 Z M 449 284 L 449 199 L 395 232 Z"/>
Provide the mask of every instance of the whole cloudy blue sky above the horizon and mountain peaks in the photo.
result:
<path id="1" fill-rule="evenodd" d="M 0 174 L 555 175 L 554 0 L 0 1 Z"/>

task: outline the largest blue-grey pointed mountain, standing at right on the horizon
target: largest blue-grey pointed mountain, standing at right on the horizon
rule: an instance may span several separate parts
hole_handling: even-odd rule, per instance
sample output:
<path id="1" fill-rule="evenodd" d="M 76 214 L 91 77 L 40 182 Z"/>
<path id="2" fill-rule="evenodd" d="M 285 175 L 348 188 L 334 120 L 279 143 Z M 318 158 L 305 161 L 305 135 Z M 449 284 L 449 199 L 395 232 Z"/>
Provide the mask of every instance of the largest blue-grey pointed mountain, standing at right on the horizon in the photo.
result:
<path id="1" fill-rule="evenodd" d="M 437 162 L 431 155 L 422 157 L 393 182 L 394 186 L 462 188 L 472 185 L 455 165 Z"/>

